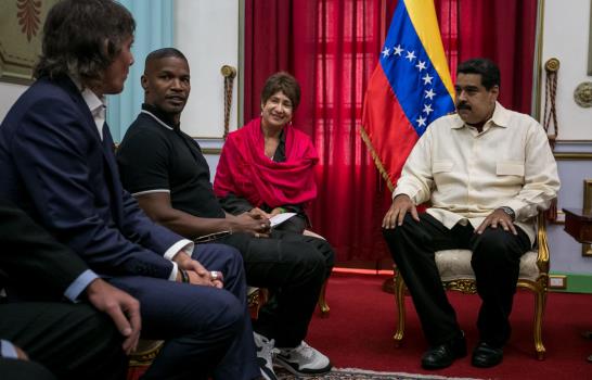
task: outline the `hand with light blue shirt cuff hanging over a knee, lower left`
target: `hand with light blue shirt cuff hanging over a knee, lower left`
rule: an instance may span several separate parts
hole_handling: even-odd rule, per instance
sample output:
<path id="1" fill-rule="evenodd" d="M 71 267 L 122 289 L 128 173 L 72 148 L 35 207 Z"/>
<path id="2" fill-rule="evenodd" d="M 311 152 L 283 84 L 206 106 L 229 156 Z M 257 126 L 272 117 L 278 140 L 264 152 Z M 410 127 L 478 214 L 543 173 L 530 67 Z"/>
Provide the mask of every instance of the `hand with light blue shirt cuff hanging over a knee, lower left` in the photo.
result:
<path id="1" fill-rule="evenodd" d="M 100 278 L 93 280 L 86 292 L 89 302 L 99 311 L 106 313 L 119 332 L 126 337 L 124 351 L 129 354 L 136 350 L 142 330 L 138 300 Z"/>

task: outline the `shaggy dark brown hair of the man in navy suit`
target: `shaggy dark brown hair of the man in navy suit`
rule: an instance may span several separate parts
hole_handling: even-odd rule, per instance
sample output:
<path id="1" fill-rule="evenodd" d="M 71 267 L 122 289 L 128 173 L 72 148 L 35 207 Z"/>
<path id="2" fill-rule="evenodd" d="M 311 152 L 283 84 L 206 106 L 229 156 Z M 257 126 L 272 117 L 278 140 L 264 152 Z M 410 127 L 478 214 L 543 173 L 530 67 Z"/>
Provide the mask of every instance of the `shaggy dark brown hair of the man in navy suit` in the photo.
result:
<path id="1" fill-rule="evenodd" d="M 48 13 L 34 76 L 100 80 L 134 29 L 133 16 L 116 1 L 62 0 Z"/>

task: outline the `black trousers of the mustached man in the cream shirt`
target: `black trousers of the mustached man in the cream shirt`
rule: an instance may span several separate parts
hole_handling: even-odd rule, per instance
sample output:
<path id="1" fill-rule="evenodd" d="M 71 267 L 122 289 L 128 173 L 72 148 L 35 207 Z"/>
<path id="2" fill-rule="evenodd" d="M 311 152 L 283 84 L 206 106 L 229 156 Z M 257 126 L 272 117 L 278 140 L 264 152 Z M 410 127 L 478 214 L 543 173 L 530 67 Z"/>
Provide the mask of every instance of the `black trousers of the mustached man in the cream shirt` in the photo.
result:
<path id="1" fill-rule="evenodd" d="M 482 301 L 477 321 L 480 340 L 502 346 L 511 333 L 509 317 L 520 256 L 531 246 L 528 236 L 517 226 L 517 236 L 501 227 L 489 227 L 477 235 L 469 224 L 448 229 L 429 214 L 421 214 L 420 219 L 417 223 L 408 214 L 402 226 L 384 229 L 383 235 L 413 299 L 428 343 L 442 344 L 460 333 L 456 315 L 438 274 L 435 252 L 465 249 L 473 251 L 471 265 Z"/>

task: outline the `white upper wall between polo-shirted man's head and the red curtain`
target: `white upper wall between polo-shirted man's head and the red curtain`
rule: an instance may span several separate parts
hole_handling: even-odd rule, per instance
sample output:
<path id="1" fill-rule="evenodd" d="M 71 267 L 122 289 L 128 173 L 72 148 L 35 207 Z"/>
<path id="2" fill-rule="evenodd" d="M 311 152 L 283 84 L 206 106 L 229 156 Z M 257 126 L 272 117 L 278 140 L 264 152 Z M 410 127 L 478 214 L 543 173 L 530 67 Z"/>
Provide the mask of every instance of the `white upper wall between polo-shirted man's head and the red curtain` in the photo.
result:
<path id="1" fill-rule="evenodd" d="M 176 0 L 175 46 L 188 58 L 192 92 L 181 128 L 196 138 L 218 138 L 224 121 L 222 65 L 239 67 L 239 1 Z M 241 75 L 241 73 L 239 73 Z M 237 77 L 230 129 L 236 129 Z"/>

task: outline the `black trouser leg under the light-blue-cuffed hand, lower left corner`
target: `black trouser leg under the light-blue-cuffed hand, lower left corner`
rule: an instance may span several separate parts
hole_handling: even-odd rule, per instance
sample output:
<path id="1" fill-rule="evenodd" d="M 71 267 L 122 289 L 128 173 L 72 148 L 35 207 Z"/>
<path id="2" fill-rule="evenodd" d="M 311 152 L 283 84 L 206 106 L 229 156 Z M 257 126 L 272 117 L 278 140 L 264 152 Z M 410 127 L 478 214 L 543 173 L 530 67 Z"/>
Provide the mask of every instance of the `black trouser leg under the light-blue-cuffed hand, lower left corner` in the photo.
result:
<path id="1" fill-rule="evenodd" d="M 2 379 L 51 379 L 41 366 L 59 379 L 126 378 L 121 335 L 106 314 L 87 304 L 2 304 L 0 337 L 25 351 L 31 360 L 0 360 Z M 10 377 L 13 371 L 16 376 Z"/>

